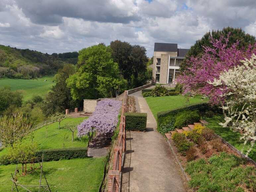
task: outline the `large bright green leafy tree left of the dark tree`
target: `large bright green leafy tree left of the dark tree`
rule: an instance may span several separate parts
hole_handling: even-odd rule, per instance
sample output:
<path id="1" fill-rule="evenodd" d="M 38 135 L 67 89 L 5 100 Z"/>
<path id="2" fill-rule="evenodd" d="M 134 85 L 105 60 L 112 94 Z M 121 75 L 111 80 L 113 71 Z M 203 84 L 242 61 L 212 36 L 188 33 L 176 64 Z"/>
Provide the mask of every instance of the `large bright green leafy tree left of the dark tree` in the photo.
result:
<path id="1" fill-rule="evenodd" d="M 111 57 L 111 48 L 104 44 L 80 50 L 78 67 L 66 81 L 73 99 L 117 96 L 125 88 L 126 81 Z"/>

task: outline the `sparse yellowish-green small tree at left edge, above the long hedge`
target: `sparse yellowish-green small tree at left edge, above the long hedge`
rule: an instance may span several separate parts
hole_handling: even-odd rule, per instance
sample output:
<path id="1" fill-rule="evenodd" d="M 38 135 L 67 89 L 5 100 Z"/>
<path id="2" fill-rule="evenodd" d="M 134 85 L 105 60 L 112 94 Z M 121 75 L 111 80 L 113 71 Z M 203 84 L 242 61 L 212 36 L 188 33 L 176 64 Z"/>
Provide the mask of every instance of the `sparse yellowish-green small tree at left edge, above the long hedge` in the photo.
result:
<path id="1" fill-rule="evenodd" d="M 5 146 L 11 146 L 21 141 L 32 131 L 32 125 L 18 110 L 12 116 L 4 116 L 0 119 L 0 141 Z"/>

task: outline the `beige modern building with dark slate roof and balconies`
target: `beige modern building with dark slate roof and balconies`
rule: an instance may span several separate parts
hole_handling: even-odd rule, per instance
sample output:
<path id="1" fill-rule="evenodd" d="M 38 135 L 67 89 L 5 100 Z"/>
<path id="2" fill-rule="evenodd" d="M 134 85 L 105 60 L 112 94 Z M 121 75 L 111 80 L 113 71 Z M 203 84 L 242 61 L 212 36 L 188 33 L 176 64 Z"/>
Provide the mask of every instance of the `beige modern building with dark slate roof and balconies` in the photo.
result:
<path id="1" fill-rule="evenodd" d="M 189 49 L 178 49 L 177 43 L 155 43 L 153 81 L 160 84 L 175 84 L 180 74 L 180 63 Z"/>

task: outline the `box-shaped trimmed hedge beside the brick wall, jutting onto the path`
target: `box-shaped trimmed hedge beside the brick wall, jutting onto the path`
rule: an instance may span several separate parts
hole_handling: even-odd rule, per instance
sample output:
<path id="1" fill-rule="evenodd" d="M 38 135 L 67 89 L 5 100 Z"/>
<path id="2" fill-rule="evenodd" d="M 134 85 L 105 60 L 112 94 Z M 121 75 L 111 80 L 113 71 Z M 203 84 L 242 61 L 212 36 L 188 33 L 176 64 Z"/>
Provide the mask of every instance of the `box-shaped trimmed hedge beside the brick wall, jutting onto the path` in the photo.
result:
<path id="1" fill-rule="evenodd" d="M 147 113 L 124 113 L 125 129 L 130 131 L 145 131 L 147 126 Z"/>

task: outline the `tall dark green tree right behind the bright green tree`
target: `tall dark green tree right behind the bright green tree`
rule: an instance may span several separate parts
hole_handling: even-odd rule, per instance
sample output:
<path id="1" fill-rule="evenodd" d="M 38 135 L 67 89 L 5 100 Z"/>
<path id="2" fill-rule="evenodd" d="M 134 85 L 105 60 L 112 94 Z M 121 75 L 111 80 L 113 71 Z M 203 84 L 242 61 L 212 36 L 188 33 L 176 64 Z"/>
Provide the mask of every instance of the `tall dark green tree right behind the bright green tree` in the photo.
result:
<path id="1" fill-rule="evenodd" d="M 110 42 L 112 57 L 118 63 L 120 73 L 128 81 L 128 88 L 141 86 L 147 81 L 145 76 L 147 71 L 148 58 L 145 47 L 131 45 L 128 42 L 115 40 Z"/>

